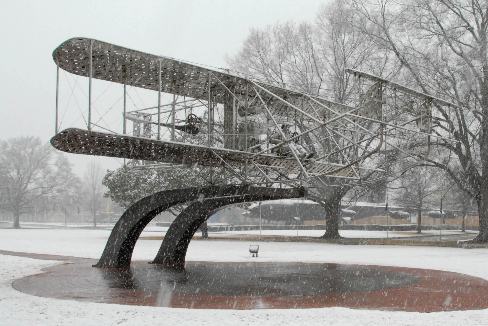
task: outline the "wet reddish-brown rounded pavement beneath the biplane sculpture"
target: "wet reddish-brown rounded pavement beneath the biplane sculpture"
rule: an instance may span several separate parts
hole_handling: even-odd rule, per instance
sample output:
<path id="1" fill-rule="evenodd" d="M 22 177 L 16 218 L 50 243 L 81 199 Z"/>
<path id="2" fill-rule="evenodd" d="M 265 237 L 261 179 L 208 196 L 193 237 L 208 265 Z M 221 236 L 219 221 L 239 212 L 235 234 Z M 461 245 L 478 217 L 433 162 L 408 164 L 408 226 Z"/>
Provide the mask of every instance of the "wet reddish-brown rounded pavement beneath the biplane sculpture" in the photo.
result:
<path id="1" fill-rule="evenodd" d="M 43 297 L 175 308 L 488 308 L 488 281 L 454 272 L 285 262 L 187 262 L 175 269 L 135 261 L 130 269 L 98 269 L 91 267 L 95 259 L 65 258 L 71 263 L 45 268 L 13 287 Z"/>

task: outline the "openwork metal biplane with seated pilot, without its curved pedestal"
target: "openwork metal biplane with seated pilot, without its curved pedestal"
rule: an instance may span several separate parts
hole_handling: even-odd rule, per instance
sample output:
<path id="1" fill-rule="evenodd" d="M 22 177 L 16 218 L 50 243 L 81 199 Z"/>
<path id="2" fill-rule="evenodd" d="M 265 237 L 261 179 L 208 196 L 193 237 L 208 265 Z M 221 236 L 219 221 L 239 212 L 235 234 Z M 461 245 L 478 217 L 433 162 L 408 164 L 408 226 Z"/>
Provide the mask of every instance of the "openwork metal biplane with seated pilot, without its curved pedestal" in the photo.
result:
<path id="1" fill-rule="evenodd" d="M 133 168 L 210 167 L 210 183 L 385 178 L 405 168 L 399 160 L 425 160 L 431 137 L 449 138 L 434 135 L 432 121 L 448 121 L 439 106 L 455 107 L 354 70 L 357 94 L 345 105 L 86 38 L 65 41 L 53 58 L 57 94 L 60 69 L 69 87 L 57 97 L 56 148 Z"/>

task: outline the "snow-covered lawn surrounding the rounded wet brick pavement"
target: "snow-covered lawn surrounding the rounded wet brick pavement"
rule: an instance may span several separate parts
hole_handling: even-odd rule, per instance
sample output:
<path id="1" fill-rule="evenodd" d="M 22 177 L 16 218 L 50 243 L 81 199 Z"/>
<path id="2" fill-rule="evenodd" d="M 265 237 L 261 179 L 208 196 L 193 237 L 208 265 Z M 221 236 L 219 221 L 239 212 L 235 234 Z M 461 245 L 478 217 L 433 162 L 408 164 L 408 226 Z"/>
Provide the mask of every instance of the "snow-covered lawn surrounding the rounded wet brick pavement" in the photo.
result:
<path id="1" fill-rule="evenodd" d="M 296 232 L 296 231 L 295 231 Z M 0 250 L 98 258 L 109 231 L 0 229 Z M 161 236 L 143 232 L 142 236 Z M 260 245 L 259 258 L 249 245 Z M 140 239 L 133 259 L 150 260 L 161 240 Z M 403 266 L 488 279 L 488 249 L 334 245 L 302 242 L 192 241 L 187 260 L 302 261 Z M 488 309 L 415 313 L 347 308 L 199 310 L 85 303 L 31 296 L 12 282 L 57 262 L 0 255 L 0 325 L 487 325 Z"/>

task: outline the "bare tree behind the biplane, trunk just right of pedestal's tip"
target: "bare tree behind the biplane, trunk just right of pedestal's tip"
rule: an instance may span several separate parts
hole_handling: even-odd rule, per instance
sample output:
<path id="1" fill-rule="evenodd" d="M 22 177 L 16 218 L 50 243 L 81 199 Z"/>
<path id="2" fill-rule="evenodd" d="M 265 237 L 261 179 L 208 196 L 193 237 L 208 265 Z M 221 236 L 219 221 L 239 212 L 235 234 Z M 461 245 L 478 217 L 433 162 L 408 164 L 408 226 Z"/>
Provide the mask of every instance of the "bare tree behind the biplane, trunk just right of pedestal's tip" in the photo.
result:
<path id="1" fill-rule="evenodd" d="M 242 49 L 235 56 L 227 57 L 227 62 L 246 77 L 348 103 L 354 100 L 351 94 L 355 85 L 344 69 L 382 73 L 388 59 L 373 51 L 373 41 L 351 27 L 349 20 L 355 19 L 351 14 L 354 12 L 340 1 L 334 1 L 321 7 L 312 24 L 287 22 L 263 30 L 251 29 Z M 297 122 L 296 125 L 302 124 Z M 306 123 L 302 126 L 308 128 Z M 328 141 L 317 142 L 325 137 Z M 304 142 L 319 156 L 341 147 L 342 141 L 336 135 L 320 134 L 320 131 L 304 137 Z M 338 163 L 347 160 L 349 154 L 357 154 L 340 152 L 334 158 Z M 325 184 L 328 187 L 322 187 Z M 316 197 L 325 208 L 324 237 L 338 238 L 339 208 L 341 199 L 351 189 L 350 181 L 323 179 L 316 180 L 314 185 Z"/>

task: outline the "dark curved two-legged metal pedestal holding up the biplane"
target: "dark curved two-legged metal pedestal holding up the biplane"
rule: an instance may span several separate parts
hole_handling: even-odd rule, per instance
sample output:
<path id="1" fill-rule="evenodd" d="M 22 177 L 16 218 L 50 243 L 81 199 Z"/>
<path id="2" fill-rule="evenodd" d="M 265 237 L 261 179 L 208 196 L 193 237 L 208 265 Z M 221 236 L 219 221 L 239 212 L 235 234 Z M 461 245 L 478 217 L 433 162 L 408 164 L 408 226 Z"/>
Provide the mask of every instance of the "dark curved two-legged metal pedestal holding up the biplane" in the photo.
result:
<path id="1" fill-rule="evenodd" d="M 208 214 L 218 207 L 245 201 L 302 197 L 305 197 L 304 189 L 278 189 L 250 185 L 160 191 L 140 199 L 125 211 L 114 226 L 100 261 L 93 266 L 103 268 L 130 267 L 132 252 L 142 230 L 156 215 L 177 204 L 196 201 L 188 206 L 173 222 L 164 237 L 154 263 L 184 264 L 186 249 L 191 237 L 210 216 Z"/>

